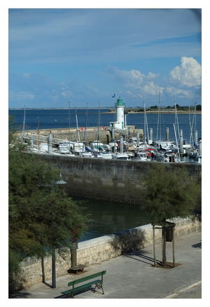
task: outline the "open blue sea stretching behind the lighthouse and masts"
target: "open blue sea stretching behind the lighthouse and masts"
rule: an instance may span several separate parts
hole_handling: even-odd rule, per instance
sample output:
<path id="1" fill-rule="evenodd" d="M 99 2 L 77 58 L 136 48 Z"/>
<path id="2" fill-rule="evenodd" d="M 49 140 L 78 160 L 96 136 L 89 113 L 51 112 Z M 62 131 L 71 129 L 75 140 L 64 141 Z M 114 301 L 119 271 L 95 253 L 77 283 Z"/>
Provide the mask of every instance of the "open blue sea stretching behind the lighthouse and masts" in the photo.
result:
<path id="1" fill-rule="evenodd" d="M 9 114 L 15 117 L 15 122 L 19 130 L 22 130 L 24 120 L 24 110 L 9 110 Z M 179 140 L 179 130 L 183 130 L 183 139 L 190 143 L 194 138 L 195 131 L 197 137 L 202 138 L 202 115 L 178 114 L 178 124 L 174 114 L 147 113 L 148 133 L 153 128 L 153 139 L 165 140 L 166 128 L 169 128 L 169 140 Z M 25 111 L 25 129 L 56 129 L 56 128 L 75 128 L 76 118 L 78 127 L 97 127 L 109 126 L 111 121 L 116 120 L 116 115 L 109 112 L 109 109 L 27 109 Z M 70 120 L 69 120 L 70 118 Z M 134 125 L 137 129 L 144 130 L 144 114 L 130 113 L 126 116 L 127 125 Z M 174 124 L 176 133 L 174 132 Z M 190 128 L 191 127 L 191 128 Z M 191 137 L 190 137 L 191 136 Z"/>

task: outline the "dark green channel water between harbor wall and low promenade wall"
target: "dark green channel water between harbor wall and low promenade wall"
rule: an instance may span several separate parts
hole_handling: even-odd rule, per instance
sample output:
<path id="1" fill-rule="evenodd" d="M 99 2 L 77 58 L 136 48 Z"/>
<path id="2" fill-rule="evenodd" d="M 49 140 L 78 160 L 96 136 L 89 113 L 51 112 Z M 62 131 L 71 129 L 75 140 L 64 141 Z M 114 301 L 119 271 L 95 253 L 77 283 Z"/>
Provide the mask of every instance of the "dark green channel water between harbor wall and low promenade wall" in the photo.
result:
<path id="1" fill-rule="evenodd" d="M 151 218 L 139 207 L 92 200 L 83 201 L 83 207 L 93 221 L 89 231 L 80 241 L 151 223 Z"/>

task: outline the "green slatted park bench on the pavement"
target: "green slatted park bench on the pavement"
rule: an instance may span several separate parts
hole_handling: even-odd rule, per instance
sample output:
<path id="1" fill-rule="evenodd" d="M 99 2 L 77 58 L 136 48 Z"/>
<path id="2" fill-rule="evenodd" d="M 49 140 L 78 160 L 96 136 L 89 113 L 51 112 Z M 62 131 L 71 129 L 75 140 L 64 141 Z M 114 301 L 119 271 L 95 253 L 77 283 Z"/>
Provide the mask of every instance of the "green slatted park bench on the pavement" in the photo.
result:
<path id="1" fill-rule="evenodd" d="M 83 278 L 79 278 L 77 280 L 73 280 L 68 283 L 68 287 L 72 286 L 72 288 L 64 292 L 61 292 L 61 293 L 64 295 L 70 296 L 71 299 L 73 299 L 73 294 L 75 294 L 76 292 L 79 292 L 82 289 L 86 289 L 86 288 L 91 287 L 92 285 L 95 285 L 94 292 L 95 292 L 95 289 L 97 288 L 97 289 L 102 289 L 102 294 L 104 294 L 104 289 L 103 289 L 103 275 L 104 274 L 106 274 L 106 271 L 102 271 L 102 272 L 95 273 L 89 276 L 85 276 Z M 99 279 L 99 276 L 101 277 L 100 279 Z M 97 279 L 94 279 L 94 278 L 97 278 Z M 91 280 L 91 281 L 87 283 L 83 283 L 83 285 L 80 285 L 78 287 L 74 287 L 75 285 L 85 282 L 87 280 Z"/>

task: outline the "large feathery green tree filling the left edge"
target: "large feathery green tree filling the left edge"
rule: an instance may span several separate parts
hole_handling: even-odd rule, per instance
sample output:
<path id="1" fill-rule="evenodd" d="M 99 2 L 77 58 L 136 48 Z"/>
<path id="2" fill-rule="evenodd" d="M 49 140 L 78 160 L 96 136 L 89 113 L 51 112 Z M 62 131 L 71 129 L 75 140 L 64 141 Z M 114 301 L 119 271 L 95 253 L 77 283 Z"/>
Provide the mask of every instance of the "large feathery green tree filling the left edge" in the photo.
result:
<path id="1" fill-rule="evenodd" d="M 13 130 L 9 132 L 9 282 L 10 290 L 20 275 L 21 261 L 45 257 L 71 247 L 75 228 L 78 238 L 87 231 L 83 207 L 52 183 L 59 178 L 57 168 L 49 168 L 37 155 L 29 153 Z M 51 165 L 52 166 L 52 165 Z"/>

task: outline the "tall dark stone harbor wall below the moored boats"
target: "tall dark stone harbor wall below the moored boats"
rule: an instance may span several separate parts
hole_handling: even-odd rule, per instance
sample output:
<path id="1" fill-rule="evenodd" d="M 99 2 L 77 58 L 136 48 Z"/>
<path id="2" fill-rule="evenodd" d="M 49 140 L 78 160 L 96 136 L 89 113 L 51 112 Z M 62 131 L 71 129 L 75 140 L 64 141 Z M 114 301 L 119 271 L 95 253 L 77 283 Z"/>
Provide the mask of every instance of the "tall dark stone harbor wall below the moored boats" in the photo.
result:
<path id="1" fill-rule="evenodd" d="M 41 155 L 51 165 L 58 164 L 67 182 L 69 196 L 94 200 L 141 204 L 144 175 L 159 163 L 153 161 L 118 161 L 113 159 L 80 158 L 74 156 Z M 163 163 L 166 168 L 187 168 L 190 176 L 201 175 L 197 163 Z"/>

